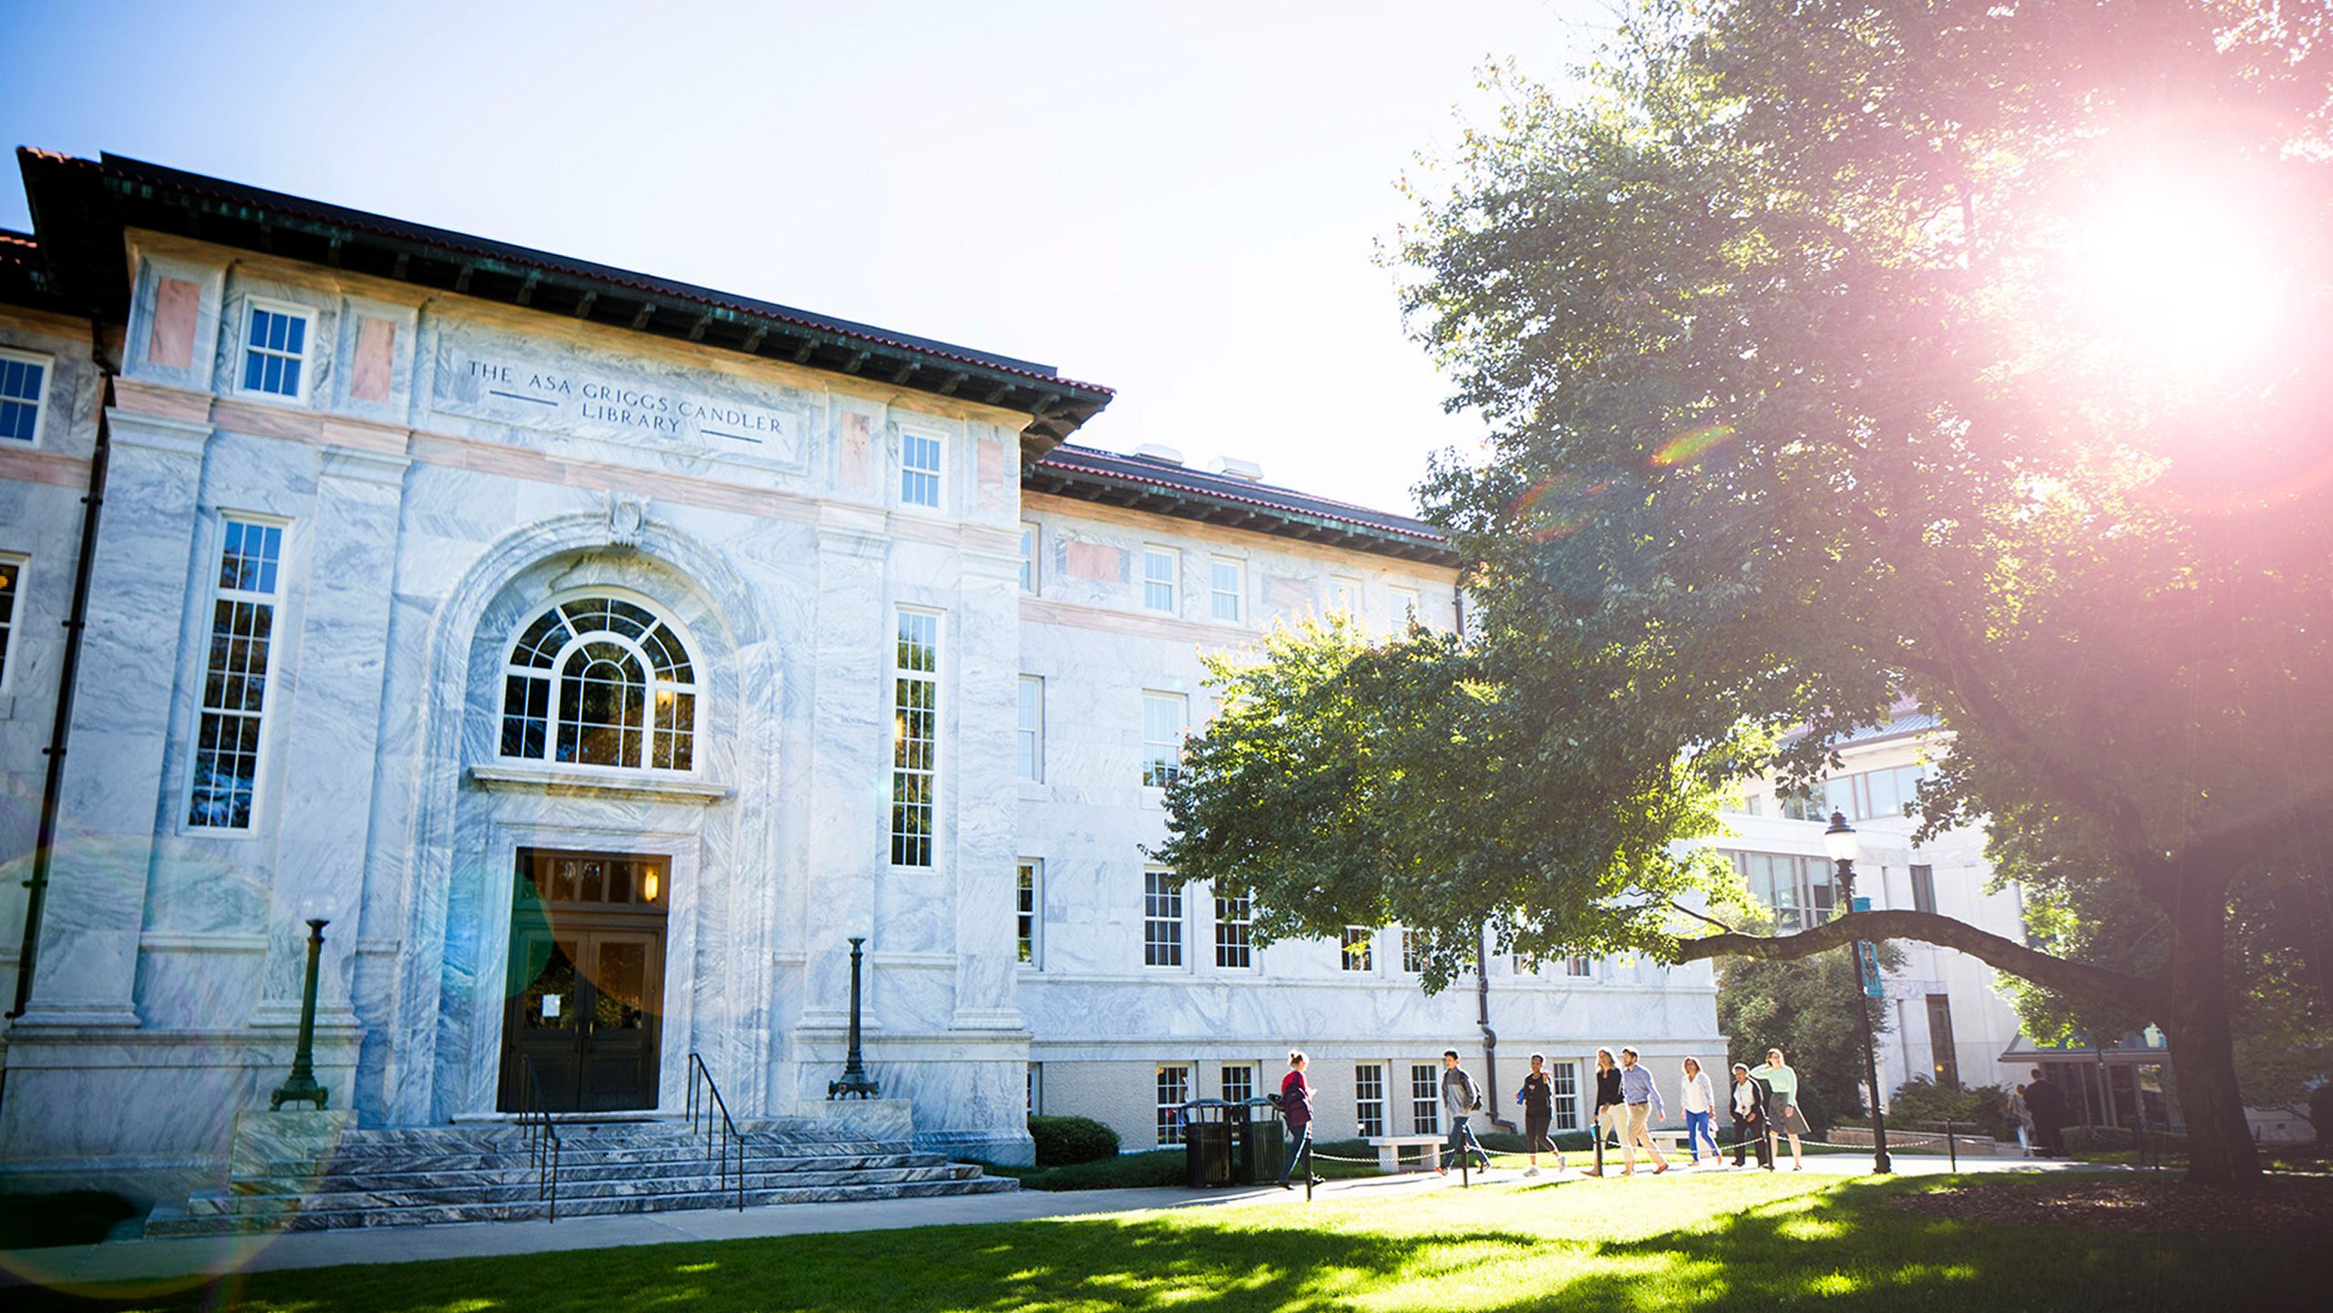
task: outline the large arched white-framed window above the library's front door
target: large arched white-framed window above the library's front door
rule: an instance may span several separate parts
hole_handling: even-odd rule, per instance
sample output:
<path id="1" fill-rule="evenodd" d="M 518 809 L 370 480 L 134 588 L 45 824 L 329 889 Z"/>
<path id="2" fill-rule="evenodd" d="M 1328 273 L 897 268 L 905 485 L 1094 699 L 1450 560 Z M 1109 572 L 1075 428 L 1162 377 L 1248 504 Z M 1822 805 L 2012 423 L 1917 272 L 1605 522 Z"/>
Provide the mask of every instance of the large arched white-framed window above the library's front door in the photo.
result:
<path id="1" fill-rule="evenodd" d="M 646 606 L 576 597 L 534 618 L 502 676 L 502 756 L 693 770 L 698 676 Z"/>

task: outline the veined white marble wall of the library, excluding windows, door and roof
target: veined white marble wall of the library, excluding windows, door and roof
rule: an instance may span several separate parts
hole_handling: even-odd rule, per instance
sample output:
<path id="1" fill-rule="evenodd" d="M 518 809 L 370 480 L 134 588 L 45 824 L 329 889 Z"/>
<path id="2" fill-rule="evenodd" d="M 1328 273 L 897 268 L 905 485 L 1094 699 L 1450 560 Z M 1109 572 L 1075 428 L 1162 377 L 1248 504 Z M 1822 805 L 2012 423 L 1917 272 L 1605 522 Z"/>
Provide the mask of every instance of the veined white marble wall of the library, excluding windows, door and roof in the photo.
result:
<path id="1" fill-rule="evenodd" d="M 1407 606 L 1453 625 L 1446 567 L 1078 497 L 1024 494 L 1027 413 L 747 359 L 177 233 L 128 233 L 119 324 L 0 306 L 0 347 L 54 375 L 35 443 L 0 445 L 0 553 L 23 557 L 0 686 L 14 968 L 79 499 L 103 368 L 110 473 L 28 1010 L 5 1031 L 0 1178 L 145 1196 L 215 1182 L 282 1077 L 308 917 L 329 919 L 317 1077 L 359 1126 L 492 1117 L 520 849 L 663 858 L 670 912 L 656 1108 L 700 1054 L 744 1117 L 833 1115 L 847 935 L 868 935 L 866 1049 L 924 1147 L 1027 1161 L 1024 1101 L 1155 1133 L 1155 1073 L 1225 1063 L 1271 1089 L 1316 1056 L 1323 1126 L 1353 1063 L 1458 1047 L 1472 984 L 1428 998 L 1337 945 L 1215 968 L 1185 891 L 1183 966 L 1143 966 L 1141 695 L 1211 707 L 1199 655 L 1269 625 Z M 296 396 L 240 387 L 252 306 L 313 333 Z M 938 438 L 940 506 L 901 499 L 903 436 Z M 224 518 L 285 529 L 252 823 L 187 823 Z M 1031 588 L 1020 536 L 1034 527 Z M 1178 560 L 1169 611 L 1143 555 Z M 1236 620 L 1211 562 L 1236 560 Z M 1353 590 L 1339 599 L 1339 588 Z M 546 604 L 635 599 L 698 667 L 688 770 L 502 758 L 504 662 Z M 891 865 L 891 651 L 940 616 L 936 858 Z M 1036 779 L 1017 681 L 1045 681 Z M 1015 872 L 1041 863 L 1038 954 Z M 1500 1089 L 1521 1054 L 1631 1040 L 1663 1070 L 1715 1054 L 1705 966 L 1491 963 Z M 1337 1075 L 1341 1073 L 1341 1077 Z M 1341 1087 L 1337 1082 L 1344 1082 Z M 1586 1080 L 1582 1080 L 1586 1084 Z M 1512 1110 L 1498 1110 L 1512 1115 Z"/>

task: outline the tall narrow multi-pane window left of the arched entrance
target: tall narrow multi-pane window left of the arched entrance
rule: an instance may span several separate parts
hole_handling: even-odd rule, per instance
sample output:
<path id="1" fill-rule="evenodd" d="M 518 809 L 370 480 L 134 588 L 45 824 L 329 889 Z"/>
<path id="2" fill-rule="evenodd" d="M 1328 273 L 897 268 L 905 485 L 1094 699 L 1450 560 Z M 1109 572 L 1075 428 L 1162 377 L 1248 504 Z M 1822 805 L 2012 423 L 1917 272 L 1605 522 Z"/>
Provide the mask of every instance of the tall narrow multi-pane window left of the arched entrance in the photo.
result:
<path id="1" fill-rule="evenodd" d="M 203 714 L 194 730 L 194 786 L 187 823 L 247 830 L 259 788 L 259 725 L 268 704 L 275 648 L 275 569 L 282 525 L 226 520 L 210 595 L 210 653 L 203 660 Z"/>

